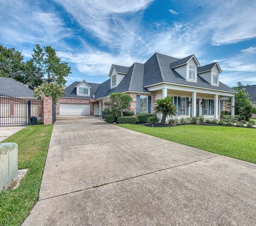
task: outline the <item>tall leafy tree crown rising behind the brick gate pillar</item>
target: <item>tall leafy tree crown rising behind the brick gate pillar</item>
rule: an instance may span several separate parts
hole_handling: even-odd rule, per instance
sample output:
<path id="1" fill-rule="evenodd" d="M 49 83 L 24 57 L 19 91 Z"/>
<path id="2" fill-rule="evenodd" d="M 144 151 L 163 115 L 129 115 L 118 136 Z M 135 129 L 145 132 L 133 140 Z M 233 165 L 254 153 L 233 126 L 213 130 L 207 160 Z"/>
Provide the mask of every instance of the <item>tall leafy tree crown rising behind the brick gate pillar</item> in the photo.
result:
<path id="1" fill-rule="evenodd" d="M 66 62 L 60 62 L 61 59 L 56 55 L 51 46 L 41 47 L 39 44 L 33 50 L 32 59 L 35 66 L 39 68 L 45 78 L 45 83 L 53 83 L 65 86 L 66 77 L 71 73 L 71 68 Z"/>

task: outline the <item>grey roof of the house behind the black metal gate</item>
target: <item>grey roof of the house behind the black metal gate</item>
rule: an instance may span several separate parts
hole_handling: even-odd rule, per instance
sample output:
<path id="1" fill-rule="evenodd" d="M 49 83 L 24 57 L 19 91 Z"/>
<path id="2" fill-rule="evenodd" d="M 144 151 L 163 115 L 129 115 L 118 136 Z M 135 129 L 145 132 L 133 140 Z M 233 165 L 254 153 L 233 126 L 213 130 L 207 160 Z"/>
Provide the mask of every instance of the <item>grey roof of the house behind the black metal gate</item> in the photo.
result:
<path id="1" fill-rule="evenodd" d="M 34 98 L 33 90 L 13 78 L 0 77 L 0 94 Z"/>

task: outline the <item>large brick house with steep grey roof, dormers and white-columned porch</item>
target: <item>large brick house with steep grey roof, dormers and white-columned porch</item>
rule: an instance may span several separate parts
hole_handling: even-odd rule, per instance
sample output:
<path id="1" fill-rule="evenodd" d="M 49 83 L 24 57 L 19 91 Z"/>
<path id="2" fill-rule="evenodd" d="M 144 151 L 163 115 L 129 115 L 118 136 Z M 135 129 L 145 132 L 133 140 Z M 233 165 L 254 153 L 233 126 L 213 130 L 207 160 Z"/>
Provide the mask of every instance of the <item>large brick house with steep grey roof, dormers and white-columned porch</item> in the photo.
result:
<path id="1" fill-rule="evenodd" d="M 220 115 L 220 98 L 230 97 L 234 106 L 236 93 L 220 82 L 221 72 L 218 62 L 201 67 L 194 54 L 178 59 L 155 53 L 145 63 L 135 62 L 130 67 L 112 64 L 109 79 L 101 84 L 92 83 L 92 87 L 91 83 L 83 80 L 81 83 L 87 84 L 90 95 L 87 95 L 87 99 L 84 98 L 86 103 L 81 101 L 79 104 L 91 104 L 90 112 L 86 110 L 86 114 L 101 115 L 107 96 L 122 92 L 132 96 L 130 110 L 139 114 L 153 112 L 156 99 L 172 96 L 173 103 L 177 106 L 177 118 L 204 115 L 206 118 L 217 119 Z M 74 99 L 80 99 L 77 90 L 79 84 L 76 82 L 68 86 L 65 96 L 73 93 Z M 63 103 L 62 101 L 61 98 L 59 102 Z M 72 104 L 69 100 L 66 101 L 67 104 Z M 62 112 L 60 111 L 61 115 Z M 234 115 L 234 107 L 231 114 Z"/>

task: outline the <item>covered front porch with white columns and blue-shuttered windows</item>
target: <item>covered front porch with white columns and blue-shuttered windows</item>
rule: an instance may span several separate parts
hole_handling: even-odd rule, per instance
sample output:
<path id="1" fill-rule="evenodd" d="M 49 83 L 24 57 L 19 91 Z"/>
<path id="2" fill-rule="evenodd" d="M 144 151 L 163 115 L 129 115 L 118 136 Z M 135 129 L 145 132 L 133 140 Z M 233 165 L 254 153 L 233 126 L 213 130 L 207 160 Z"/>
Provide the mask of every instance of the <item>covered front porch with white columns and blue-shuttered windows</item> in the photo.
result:
<path id="1" fill-rule="evenodd" d="M 221 98 L 223 97 L 231 98 L 231 116 L 235 115 L 235 93 L 173 84 L 147 88 L 149 91 L 155 92 L 155 99 L 163 99 L 166 96 L 173 97 L 173 104 L 177 106 L 177 118 L 203 115 L 205 118 L 219 119 L 222 110 Z"/>

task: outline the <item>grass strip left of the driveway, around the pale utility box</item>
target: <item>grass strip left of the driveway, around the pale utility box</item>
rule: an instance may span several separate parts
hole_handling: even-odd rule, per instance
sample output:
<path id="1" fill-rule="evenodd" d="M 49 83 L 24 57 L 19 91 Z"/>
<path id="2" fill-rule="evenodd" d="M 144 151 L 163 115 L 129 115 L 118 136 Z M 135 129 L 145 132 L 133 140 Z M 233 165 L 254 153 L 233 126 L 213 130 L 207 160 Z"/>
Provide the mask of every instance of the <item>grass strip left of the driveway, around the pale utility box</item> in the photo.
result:
<path id="1" fill-rule="evenodd" d="M 2 142 L 18 144 L 18 168 L 28 168 L 19 188 L 0 192 L 0 225 L 20 225 L 36 204 L 52 125 L 28 126 Z"/>

